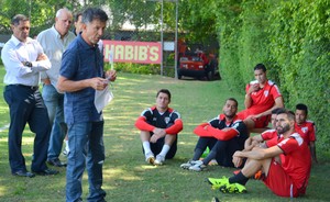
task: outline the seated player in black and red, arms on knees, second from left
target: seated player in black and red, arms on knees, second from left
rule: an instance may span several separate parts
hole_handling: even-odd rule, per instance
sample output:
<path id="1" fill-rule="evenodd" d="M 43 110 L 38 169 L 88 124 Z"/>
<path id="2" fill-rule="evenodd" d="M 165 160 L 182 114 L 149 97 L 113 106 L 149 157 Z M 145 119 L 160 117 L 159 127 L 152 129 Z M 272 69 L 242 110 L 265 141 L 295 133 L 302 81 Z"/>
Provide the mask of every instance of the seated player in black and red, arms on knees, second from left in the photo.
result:
<path id="1" fill-rule="evenodd" d="M 223 114 L 202 123 L 194 130 L 199 136 L 195 147 L 194 157 L 180 167 L 184 169 L 201 171 L 216 159 L 219 166 L 233 167 L 232 155 L 244 148 L 248 138 L 248 130 L 243 121 L 237 115 L 238 101 L 229 98 L 223 105 Z M 206 158 L 199 160 L 206 148 L 210 153 Z"/>

